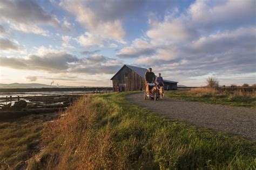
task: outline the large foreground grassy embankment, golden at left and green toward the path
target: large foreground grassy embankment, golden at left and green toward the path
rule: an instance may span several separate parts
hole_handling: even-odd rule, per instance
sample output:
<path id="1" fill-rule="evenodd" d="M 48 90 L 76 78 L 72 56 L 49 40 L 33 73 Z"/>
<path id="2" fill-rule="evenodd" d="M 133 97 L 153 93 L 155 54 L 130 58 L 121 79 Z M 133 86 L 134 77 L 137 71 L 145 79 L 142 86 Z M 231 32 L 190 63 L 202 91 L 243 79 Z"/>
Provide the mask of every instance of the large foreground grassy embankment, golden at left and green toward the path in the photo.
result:
<path id="1" fill-rule="evenodd" d="M 84 97 L 49 122 L 28 168 L 255 169 L 255 141 L 172 122 L 125 100 Z"/>

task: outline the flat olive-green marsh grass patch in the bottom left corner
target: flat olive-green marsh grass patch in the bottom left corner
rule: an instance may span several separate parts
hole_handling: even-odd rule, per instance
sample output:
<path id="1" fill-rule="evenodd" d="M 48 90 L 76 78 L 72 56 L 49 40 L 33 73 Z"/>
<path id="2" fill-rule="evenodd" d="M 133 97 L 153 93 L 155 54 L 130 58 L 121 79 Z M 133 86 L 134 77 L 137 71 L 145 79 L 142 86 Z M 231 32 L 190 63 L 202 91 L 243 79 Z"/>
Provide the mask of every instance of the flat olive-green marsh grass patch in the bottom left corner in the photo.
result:
<path id="1" fill-rule="evenodd" d="M 38 152 L 42 127 L 42 120 L 34 118 L 0 122 L 0 169 L 19 169 Z"/>

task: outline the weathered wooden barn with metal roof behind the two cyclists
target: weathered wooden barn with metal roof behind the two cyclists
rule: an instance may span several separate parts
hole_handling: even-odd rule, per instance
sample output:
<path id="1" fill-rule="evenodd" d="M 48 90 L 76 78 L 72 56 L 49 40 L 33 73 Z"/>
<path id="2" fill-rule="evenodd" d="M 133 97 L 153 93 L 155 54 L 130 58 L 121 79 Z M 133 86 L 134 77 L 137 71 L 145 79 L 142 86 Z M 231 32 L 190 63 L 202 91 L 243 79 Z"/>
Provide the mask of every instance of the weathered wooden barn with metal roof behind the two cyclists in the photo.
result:
<path id="1" fill-rule="evenodd" d="M 146 68 L 124 65 L 114 76 L 112 80 L 113 87 L 119 87 L 121 91 L 145 90 L 145 73 Z M 165 89 L 169 86 L 170 90 L 177 90 L 176 81 L 164 80 Z"/>

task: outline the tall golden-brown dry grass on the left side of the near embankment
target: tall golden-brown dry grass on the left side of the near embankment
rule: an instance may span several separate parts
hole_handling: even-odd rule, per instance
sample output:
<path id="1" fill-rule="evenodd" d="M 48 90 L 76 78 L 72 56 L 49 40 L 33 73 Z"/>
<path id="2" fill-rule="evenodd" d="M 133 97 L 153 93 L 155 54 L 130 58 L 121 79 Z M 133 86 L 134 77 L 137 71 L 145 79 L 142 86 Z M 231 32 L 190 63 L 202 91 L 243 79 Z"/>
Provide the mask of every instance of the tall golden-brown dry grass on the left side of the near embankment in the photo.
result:
<path id="1" fill-rule="evenodd" d="M 40 162 L 34 160 L 29 169 L 92 169 L 107 167 L 107 151 L 110 147 L 109 128 L 98 132 L 97 121 L 102 115 L 97 108 L 104 107 L 102 102 L 83 97 L 73 103 L 60 119 L 50 122 L 44 131 L 45 148 Z M 100 106 L 101 105 L 101 106 Z M 43 162 L 43 164 L 42 164 Z"/>

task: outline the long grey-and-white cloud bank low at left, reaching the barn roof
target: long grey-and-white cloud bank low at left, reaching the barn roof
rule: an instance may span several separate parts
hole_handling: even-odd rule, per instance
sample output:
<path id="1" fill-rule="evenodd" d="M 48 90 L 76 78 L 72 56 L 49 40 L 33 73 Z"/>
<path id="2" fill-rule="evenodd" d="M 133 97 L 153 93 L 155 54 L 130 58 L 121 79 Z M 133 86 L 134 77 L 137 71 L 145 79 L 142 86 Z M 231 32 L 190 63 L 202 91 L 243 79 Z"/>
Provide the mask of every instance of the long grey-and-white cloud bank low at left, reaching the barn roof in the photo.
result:
<path id="1" fill-rule="evenodd" d="M 122 65 L 122 61 L 103 55 L 92 54 L 84 58 L 77 58 L 69 53 L 53 51 L 44 47 L 38 48 L 35 54 L 26 57 L 0 57 L 1 67 L 37 70 L 51 74 L 113 74 Z"/>

